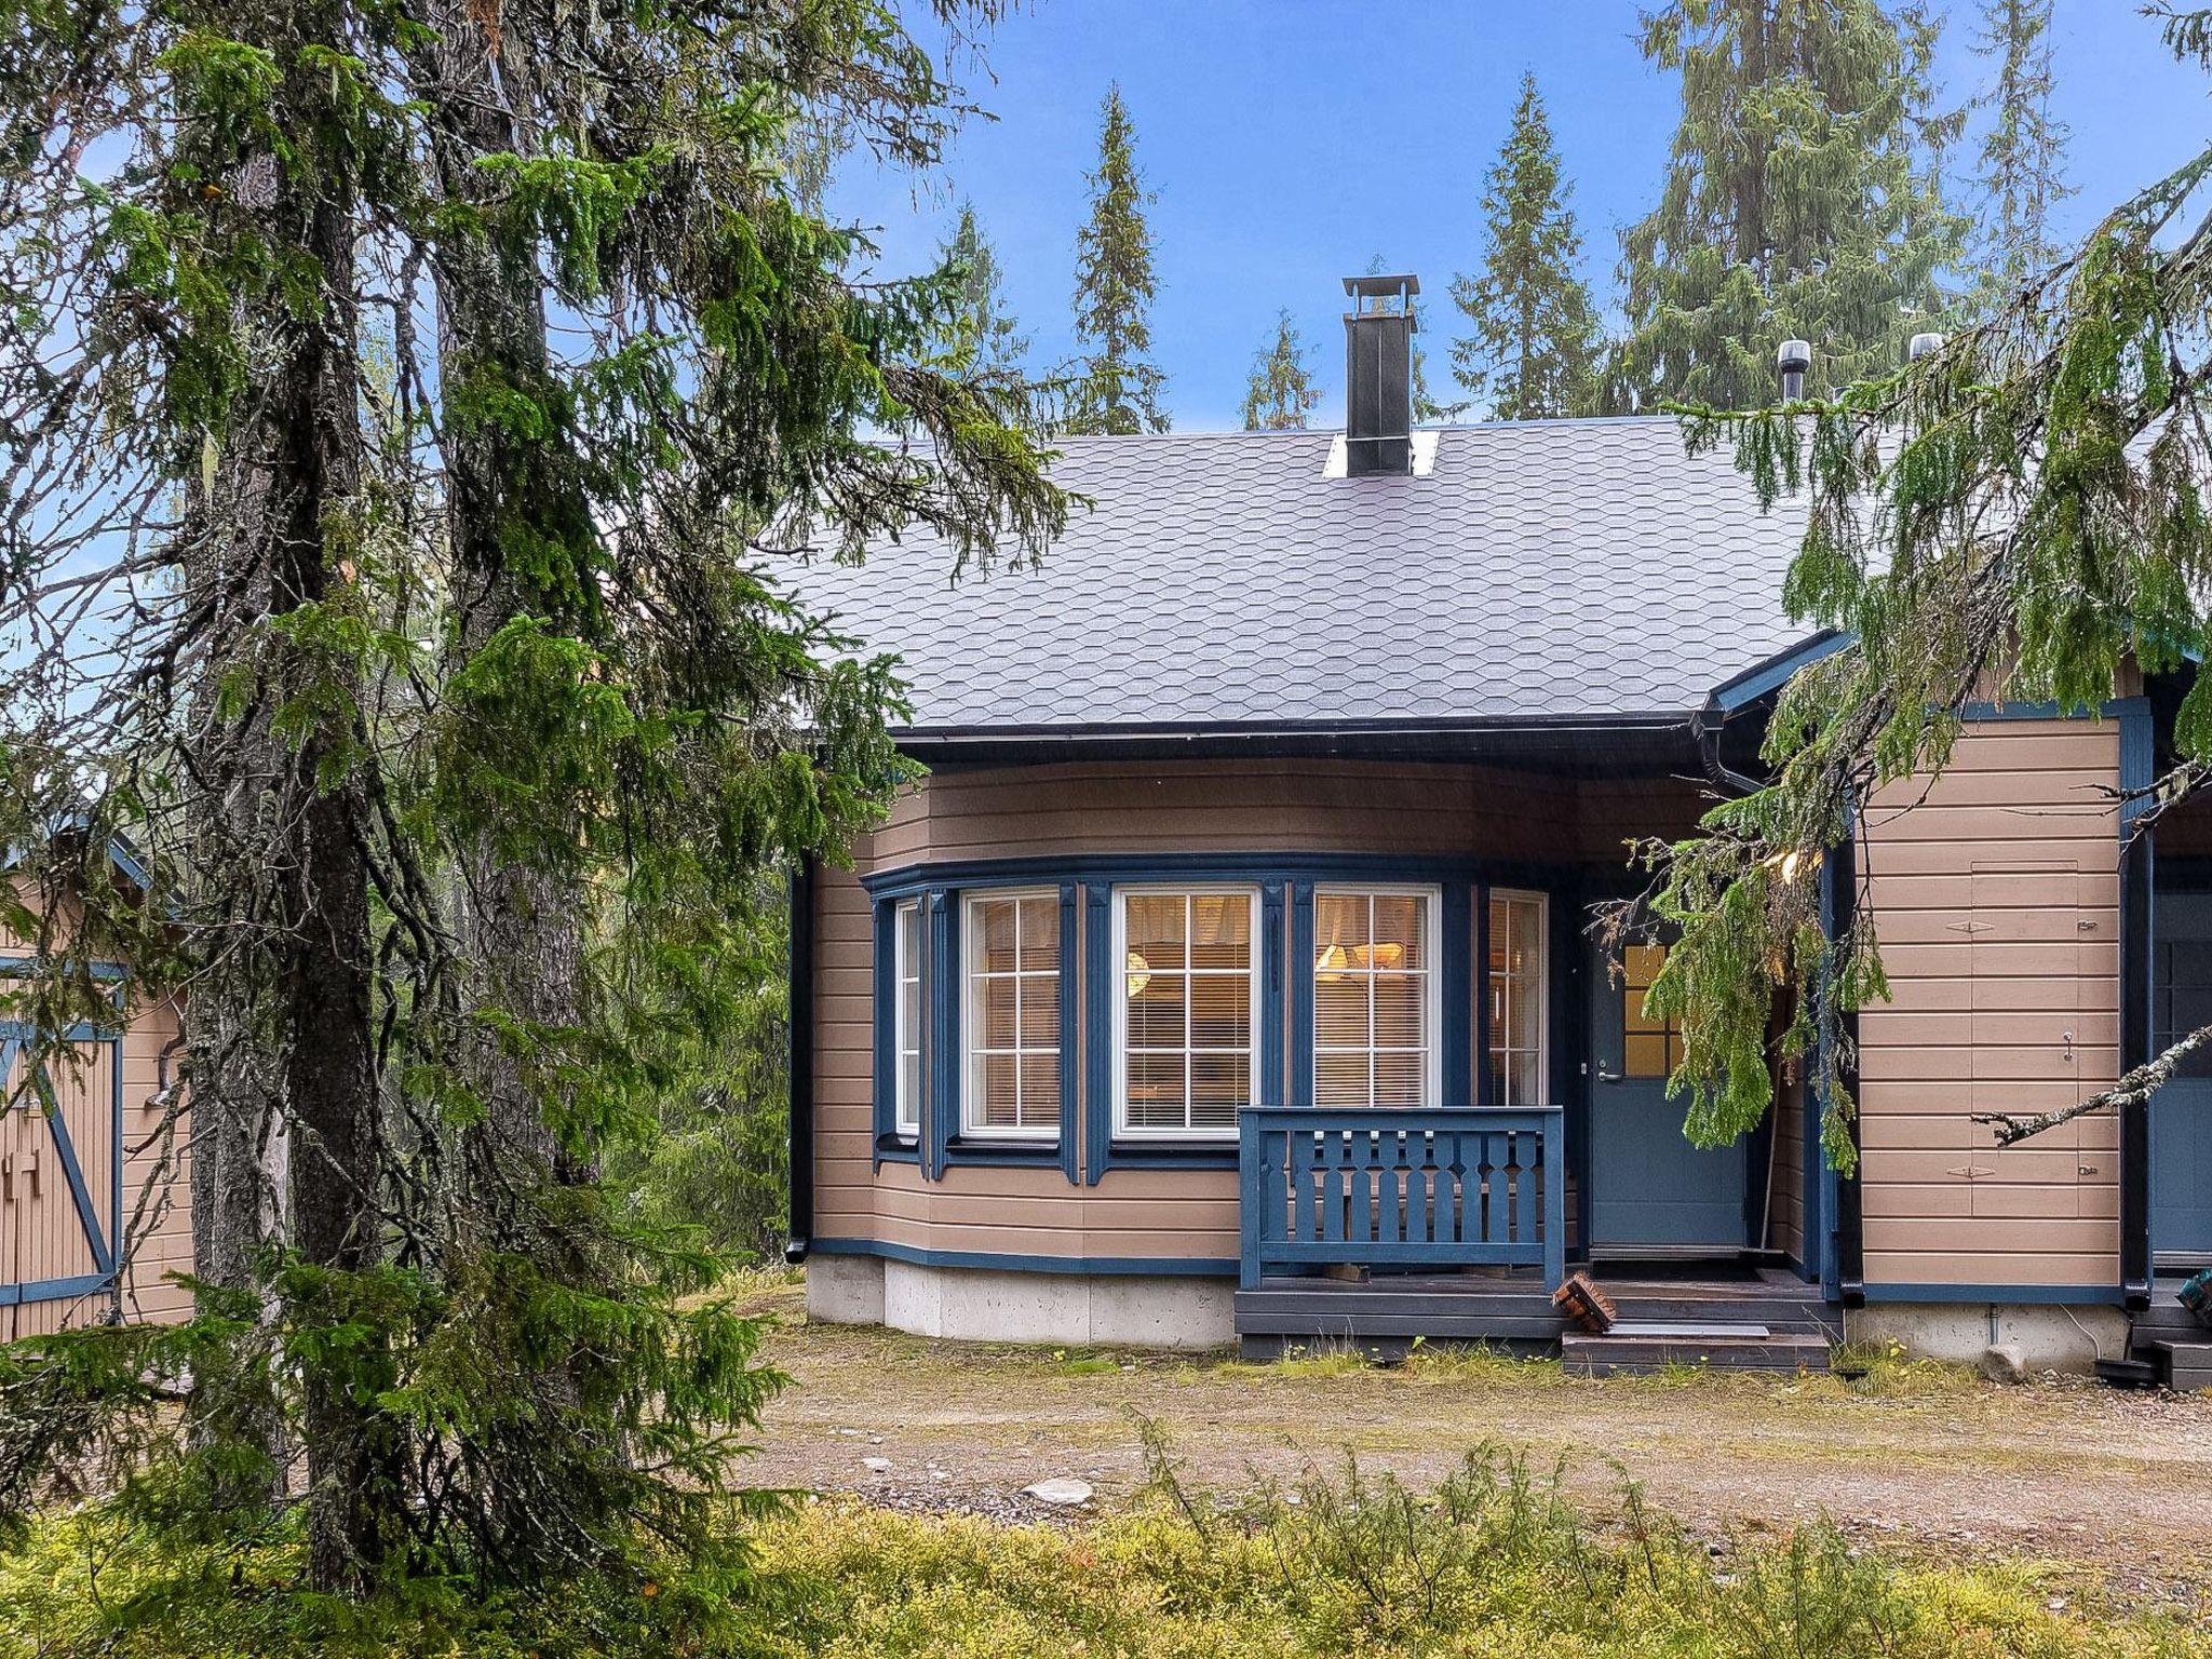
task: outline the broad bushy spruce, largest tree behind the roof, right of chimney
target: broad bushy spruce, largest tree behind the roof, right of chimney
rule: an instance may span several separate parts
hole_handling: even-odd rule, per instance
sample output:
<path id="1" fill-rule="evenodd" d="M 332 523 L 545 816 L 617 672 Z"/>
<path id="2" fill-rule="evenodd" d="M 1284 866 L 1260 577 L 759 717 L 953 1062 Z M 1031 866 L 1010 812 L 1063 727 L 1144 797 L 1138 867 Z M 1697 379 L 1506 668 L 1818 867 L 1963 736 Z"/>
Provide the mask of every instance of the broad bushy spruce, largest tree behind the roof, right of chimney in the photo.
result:
<path id="1" fill-rule="evenodd" d="M 1628 338 L 1606 403 L 1774 403 L 1774 347 L 1814 345 L 1807 392 L 1893 369 L 1951 307 L 1964 221 L 1931 150 L 1936 24 L 1880 0 L 1670 0 L 1644 55 L 1681 77 L 1659 204 L 1621 237 Z"/>

